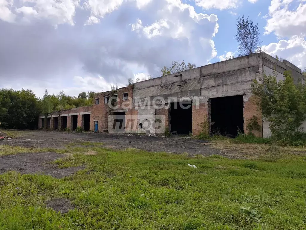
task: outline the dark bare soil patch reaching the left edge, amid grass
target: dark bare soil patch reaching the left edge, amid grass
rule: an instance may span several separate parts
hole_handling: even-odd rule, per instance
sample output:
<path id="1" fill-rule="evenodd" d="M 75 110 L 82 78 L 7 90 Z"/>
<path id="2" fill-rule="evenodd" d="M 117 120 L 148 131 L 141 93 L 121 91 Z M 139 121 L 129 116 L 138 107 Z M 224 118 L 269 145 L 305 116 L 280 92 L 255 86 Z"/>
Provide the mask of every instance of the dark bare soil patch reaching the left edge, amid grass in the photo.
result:
<path id="1" fill-rule="evenodd" d="M 18 171 L 21 174 L 46 174 L 55 178 L 69 176 L 84 166 L 73 168 L 57 168 L 49 162 L 66 155 L 55 152 L 22 153 L 0 157 L 0 174 L 7 171 Z"/>

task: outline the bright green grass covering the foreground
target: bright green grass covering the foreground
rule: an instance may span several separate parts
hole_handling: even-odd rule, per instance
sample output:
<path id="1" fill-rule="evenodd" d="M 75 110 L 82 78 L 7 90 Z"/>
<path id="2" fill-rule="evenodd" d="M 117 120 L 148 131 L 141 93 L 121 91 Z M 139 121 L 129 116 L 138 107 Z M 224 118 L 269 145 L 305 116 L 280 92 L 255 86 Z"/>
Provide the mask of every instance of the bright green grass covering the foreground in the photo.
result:
<path id="1" fill-rule="evenodd" d="M 0 229 L 306 228 L 304 155 L 270 162 L 132 148 L 68 151 L 55 164 L 85 170 L 62 179 L 0 175 Z M 52 197 L 76 208 L 56 213 L 44 205 Z"/>

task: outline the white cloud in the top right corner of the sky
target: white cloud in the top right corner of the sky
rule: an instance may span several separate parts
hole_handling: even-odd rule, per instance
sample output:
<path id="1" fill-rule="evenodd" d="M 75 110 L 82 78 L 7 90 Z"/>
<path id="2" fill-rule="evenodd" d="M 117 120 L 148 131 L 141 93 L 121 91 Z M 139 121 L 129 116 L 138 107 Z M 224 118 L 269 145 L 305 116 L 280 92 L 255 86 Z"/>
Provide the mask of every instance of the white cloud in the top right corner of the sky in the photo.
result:
<path id="1" fill-rule="evenodd" d="M 272 0 L 265 34 L 274 32 L 279 38 L 306 36 L 306 0 Z M 291 10 L 292 5 L 297 8 Z"/>

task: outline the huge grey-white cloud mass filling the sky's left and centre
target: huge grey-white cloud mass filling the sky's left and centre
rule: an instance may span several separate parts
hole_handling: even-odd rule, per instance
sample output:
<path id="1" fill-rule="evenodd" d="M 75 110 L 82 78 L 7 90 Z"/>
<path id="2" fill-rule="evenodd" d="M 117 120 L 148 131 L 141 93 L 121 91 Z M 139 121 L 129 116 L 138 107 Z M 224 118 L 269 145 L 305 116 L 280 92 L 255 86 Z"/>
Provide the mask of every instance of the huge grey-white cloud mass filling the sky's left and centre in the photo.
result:
<path id="1" fill-rule="evenodd" d="M 197 13 L 180 0 L 85 0 L 84 7 L 79 0 L 4 1 L 0 20 L 8 20 L 1 14 L 5 6 L 15 23 L 0 21 L 6 31 L 0 36 L 0 56 L 6 57 L 0 63 L 2 83 L 39 95 L 45 88 L 70 95 L 105 91 L 116 82 L 124 86 L 129 77 L 159 76 L 174 60 L 201 66 L 217 55 L 217 15 Z M 40 86 L 28 83 L 38 81 Z"/>

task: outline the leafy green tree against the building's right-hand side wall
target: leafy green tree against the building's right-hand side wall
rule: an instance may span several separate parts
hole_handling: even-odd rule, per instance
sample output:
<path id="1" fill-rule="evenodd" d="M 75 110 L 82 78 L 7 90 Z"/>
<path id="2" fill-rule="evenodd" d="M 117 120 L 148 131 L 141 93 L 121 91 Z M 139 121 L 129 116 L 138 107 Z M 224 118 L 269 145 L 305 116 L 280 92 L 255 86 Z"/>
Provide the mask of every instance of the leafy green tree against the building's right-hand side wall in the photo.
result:
<path id="1" fill-rule="evenodd" d="M 295 85 L 289 71 L 284 72 L 283 81 L 276 77 L 276 71 L 272 76 L 264 75 L 263 84 L 254 81 L 251 88 L 260 99 L 258 105 L 270 122 L 272 136 L 292 140 L 303 131 L 299 127 L 306 119 L 306 88 L 300 82 Z"/>

